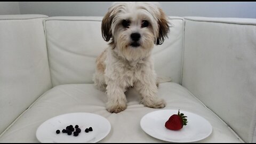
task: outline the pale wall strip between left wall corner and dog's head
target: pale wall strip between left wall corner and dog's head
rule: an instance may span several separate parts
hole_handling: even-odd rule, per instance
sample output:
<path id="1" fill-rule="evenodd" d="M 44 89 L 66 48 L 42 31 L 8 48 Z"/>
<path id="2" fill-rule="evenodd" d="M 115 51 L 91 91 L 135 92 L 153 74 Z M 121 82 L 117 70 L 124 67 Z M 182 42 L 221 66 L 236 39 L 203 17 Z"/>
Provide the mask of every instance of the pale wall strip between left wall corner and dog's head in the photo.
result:
<path id="1" fill-rule="evenodd" d="M 103 16 L 111 2 L 19 2 L 22 14 Z"/>

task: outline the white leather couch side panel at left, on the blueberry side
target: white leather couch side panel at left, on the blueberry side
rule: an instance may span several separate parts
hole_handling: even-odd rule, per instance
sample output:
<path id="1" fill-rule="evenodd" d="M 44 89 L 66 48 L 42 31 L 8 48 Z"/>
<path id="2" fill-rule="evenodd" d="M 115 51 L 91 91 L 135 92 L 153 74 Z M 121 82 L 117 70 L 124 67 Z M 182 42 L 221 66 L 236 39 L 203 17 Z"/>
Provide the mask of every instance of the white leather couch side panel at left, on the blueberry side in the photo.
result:
<path id="1" fill-rule="evenodd" d="M 46 15 L 0 15 L 0 133 L 51 88 Z"/>

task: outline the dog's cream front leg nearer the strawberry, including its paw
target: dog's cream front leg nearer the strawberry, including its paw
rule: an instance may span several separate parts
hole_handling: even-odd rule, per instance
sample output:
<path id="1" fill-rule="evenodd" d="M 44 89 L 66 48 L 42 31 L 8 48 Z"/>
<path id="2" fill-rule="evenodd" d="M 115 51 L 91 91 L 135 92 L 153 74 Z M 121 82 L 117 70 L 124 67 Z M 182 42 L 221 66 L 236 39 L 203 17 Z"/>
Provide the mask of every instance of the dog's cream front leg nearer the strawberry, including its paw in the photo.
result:
<path id="1" fill-rule="evenodd" d="M 135 89 L 141 94 L 143 103 L 146 107 L 151 108 L 163 108 L 165 107 L 165 101 L 159 97 L 157 97 L 157 85 L 156 82 L 153 81 L 153 76 L 144 75 L 145 77 L 139 79 L 135 83 Z"/>

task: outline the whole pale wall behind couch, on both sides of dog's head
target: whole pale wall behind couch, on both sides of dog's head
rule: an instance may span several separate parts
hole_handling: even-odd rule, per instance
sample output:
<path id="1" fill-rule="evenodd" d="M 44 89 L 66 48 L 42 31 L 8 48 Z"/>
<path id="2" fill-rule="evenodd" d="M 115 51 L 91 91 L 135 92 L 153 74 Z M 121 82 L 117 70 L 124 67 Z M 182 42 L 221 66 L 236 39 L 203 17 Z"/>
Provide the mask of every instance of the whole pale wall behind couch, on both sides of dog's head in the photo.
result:
<path id="1" fill-rule="evenodd" d="M 8 2 L 2 2 L 8 3 Z M 186 17 L 256 18 L 256 2 L 159 2 L 167 15 Z M 17 5 L 17 2 L 10 5 Z M 111 2 L 19 2 L 21 14 L 53 16 L 103 16 Z M 1 9 L 17 11 L 10 7 Z"/>

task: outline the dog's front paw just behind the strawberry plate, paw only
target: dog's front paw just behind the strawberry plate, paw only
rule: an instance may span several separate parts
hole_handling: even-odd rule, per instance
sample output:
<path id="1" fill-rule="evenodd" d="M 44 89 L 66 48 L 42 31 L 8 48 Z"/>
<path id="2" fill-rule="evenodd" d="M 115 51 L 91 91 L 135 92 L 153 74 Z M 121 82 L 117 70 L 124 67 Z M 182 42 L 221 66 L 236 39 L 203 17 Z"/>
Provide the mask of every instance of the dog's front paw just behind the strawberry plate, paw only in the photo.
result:
<path id="1" fill-rule="evenodd" d="M 155 98 L 155 99 L 142 99 L 141 102 L 144 106 L 150 107 L 150 108 L 164 108 L 166 105 L 166 102 L 164 99 Z"/>

